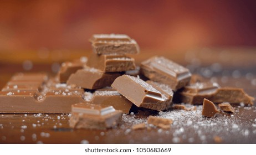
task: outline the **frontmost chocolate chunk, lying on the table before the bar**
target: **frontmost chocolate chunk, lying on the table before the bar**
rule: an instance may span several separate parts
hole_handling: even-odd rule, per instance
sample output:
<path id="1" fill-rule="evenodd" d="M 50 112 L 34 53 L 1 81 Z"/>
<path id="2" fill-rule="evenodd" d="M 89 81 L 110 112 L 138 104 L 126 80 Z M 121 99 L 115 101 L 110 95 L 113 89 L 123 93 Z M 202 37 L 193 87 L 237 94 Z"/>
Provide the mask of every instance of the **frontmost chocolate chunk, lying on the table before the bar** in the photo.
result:
<path id="1" fill-rule="evenodd" d="M 71 108 L 69 123 L 71 128 L 105 130 L 121 122 L 122 111 L 116 111 L 112 106 L 79 103 L 72 105 Z"/>

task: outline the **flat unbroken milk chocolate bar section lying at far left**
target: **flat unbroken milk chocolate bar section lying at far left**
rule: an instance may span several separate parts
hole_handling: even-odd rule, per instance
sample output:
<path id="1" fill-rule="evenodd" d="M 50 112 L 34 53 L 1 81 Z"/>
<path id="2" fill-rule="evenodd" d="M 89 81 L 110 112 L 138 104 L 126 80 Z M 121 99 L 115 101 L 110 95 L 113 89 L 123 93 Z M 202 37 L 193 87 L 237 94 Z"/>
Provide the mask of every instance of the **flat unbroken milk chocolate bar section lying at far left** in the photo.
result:
<path id="1" fill-rule="evenodd" d="M 25 79 L 28 80 L 27 84 Z M 70 113 L 72 104 L 85 102 L 83 89 L 65 84 L 55 85 L 45 79 L 48 77 L 44 74 L 23 74 L 19 78 L 14 75 L 0 91 L 0 113 Z M 32 85 L 37 80 L 41 86 L 36 83 Z M 16 85 L 13 85 L 14 82 Z"/>

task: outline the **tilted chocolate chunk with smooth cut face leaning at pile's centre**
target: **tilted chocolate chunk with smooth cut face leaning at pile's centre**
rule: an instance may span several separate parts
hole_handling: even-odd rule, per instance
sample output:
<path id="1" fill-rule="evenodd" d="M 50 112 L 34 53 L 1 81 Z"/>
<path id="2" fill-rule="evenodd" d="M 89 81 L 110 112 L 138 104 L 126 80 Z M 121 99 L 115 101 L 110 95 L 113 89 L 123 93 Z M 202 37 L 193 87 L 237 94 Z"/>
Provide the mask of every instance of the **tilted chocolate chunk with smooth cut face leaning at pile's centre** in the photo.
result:
<path id="1" fill-rule="evenodd" d="M 160 91 L 134 76 L 119 76 L 111 86 L 137 107 L 161 111 L 165 110 L 166 105 L 170 104 L 170 100 L 162 95 Z"/>

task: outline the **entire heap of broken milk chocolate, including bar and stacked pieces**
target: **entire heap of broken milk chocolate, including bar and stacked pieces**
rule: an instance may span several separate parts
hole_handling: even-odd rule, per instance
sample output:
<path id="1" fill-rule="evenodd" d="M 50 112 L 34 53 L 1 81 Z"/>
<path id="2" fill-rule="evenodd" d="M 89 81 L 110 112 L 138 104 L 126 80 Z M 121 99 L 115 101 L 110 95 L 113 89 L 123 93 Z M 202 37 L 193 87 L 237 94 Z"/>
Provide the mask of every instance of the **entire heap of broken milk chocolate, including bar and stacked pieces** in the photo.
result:
<path id="1" fill-rule="evenodd" d="M 254 98 L 242 89 L 202 82 L 163 56 L 135 66 L 127 54 L 139 54 L 140 49 L 127 35 L 97 34 L 90 42 L 90 57 L 63 63 L 57 78 L 14 75 L 0 92 L 0 112 L 71 112 L 70 127 L 104 129 L 120 123 L 121 114 L 129 113 L 132 106 L 166 111 L 188 110 L 173 102 L 203 104 L 202 115 L 213 117 L 220 112 L 214 104 L 226 112 L 233 111 L 229 103 L 253 105 Z"/>

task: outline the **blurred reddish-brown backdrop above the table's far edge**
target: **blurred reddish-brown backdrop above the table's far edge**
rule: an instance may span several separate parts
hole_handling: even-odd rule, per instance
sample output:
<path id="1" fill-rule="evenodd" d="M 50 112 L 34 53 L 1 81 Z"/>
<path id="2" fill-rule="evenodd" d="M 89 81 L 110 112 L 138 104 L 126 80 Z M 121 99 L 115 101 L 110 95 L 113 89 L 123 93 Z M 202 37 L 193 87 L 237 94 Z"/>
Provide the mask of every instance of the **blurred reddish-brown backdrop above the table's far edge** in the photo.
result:
<path id="1" fill-rule="evenodd" d="M 124 33 L 141 49 L 255 46 L 256 1 L 0 1 L 0 51 L 90 49 Z"/>

